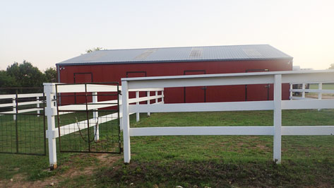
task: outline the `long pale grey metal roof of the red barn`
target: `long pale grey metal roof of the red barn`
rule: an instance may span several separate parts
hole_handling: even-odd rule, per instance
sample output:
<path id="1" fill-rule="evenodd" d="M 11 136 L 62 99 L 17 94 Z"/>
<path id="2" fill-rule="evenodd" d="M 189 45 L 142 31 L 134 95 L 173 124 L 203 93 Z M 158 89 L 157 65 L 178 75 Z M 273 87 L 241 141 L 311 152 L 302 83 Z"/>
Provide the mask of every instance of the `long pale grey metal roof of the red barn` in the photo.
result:
<path id="1" fill-rule="evenodd" d="M 270 45 L 108 49 L 82 54 L 56 65 L 133 64 L 181 61 L 292 59 Z"/>

